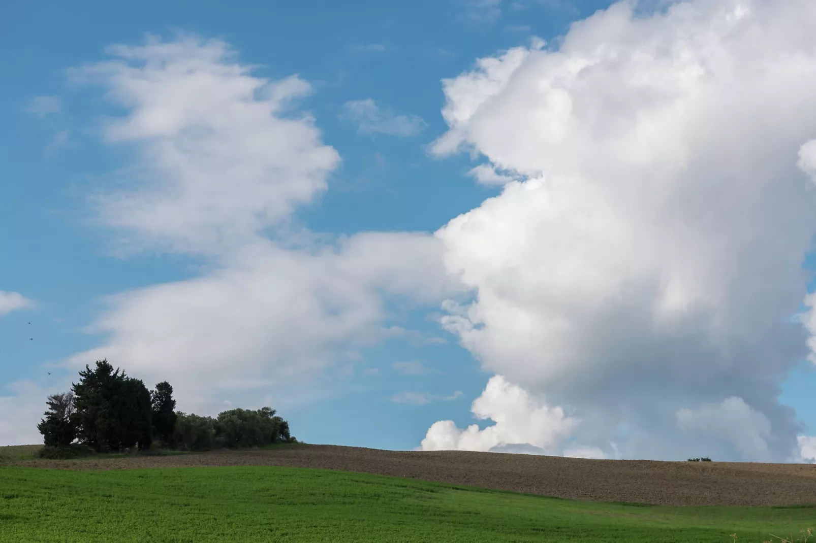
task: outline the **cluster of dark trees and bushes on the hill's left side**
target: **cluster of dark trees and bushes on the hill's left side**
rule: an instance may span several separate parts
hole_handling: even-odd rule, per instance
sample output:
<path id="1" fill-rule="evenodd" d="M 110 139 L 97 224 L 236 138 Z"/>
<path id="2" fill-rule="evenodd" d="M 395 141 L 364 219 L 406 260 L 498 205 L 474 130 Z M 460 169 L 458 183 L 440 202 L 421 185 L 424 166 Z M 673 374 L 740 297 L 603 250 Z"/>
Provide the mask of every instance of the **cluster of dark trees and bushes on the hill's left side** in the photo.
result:
<path id="1" fill-rule="evenodd" d="M 149 391 L 144 382 L 113 369 L 108 360 L 85 366 L 71 390 L 48 396 L 38 424 L 46 447 L 75 442 L 99 453 L 131 448 L 206 450 L 296 443 L 289 423 L 272 408 L 232 409 L 218 417 L 175 411 L 173 387 L 160 382 Z"/>

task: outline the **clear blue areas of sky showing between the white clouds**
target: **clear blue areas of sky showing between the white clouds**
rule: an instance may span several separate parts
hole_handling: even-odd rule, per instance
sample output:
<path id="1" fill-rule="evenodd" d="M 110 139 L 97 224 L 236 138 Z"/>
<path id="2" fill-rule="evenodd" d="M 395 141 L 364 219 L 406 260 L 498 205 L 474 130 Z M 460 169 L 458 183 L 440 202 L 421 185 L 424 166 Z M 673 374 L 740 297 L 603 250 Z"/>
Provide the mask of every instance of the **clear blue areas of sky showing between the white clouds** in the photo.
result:
<path id="1" fill-rule="evenodd" d="M 332 240 L 331 244 L 360 232 L 435 232 L 502 193 L 500 184 L 476 183 L 468 175 L 474 166 L 492 164 L 499 173 L 530 179 L 511 158 L 491 155 L 493 147 L 481 145 L 476 136 L 468 142 L 473 152 L 434 151 L 434 142 L 450 128 L 442 109 L 455 101 L 451 95 L 446 99 L 441 80 L 472 73 L 477 59 L 499 58 L 512 48 L 529 51 L 534 38 L 552 42 L 549 50 L 557 50 L 556 38 L 569 31 L 572 21 L 583 20 L 610 3 L 233 2 L 227 7 L 223 2 L 198 2 L 192 7 L 172 2 L 84 2 L 77 8 L 60 2 L 12 1 L 0 21 L 0 66 L 5 73 L 0 83 L 0 290 L 20 293 L 33 302 L 0 316 L 0 386 L 4 387 L 0 396 L 9 399 L 3 405 L 29 406 L 33 396 L 42 395 L 37 399 L 41 411 L 45 394 L 76 374 L 78 356 L 92 363 L 91 353 L 102 352 L 93 350 L 106 342 L 113 345 L 104 330 L 89 329 L 104 320 L 112 303 L 118 303 L 105 297 L 194 280 L 224 265 L 223 255 L 212 259 L 196 251 L 151 245 L 137 254 L 117 253 L 119 230 L 110 220 L 97 220 L 91 196 L 126 179 L 129 168 L 144 160 L 140 154 L 144 149 L 138 142 L 111 143 L 104 136 L 106 119 L 132 113 L 127 104 L 106 96 L 112 80 L 78 82 L 72 68 L 110 60 L 105 48 L 113 44 L 143 45 L 148 33 L 165 42 L 191 35 L 222 40 L 235 51 L 236 62 L 255 66 L 253 77 L 274 82 L 297 75 L 308 82 L 311 91 L 296 100 L 293 115 L 313 116 L 322 144 L 339 155 L 338 165 L 326 171 L 326 191 L 295 205 L 286 219 L 288 226 L 281 231 L 273 226 L 264 236 L 280 241 L 288 235 L 284 231 L 308 230 Z M 816 137 L 816 131 L 811 137 Z M 530 272 L 536 273 L 534 268 Z M 300 439 L 375 448 L 415 448 L 437 421 L 452 420 L 459 427 L 478 423 L 484 429 L 492 424 L 490 417 L 475 419 L 471 402 L 483 394 L 488 379 L 500 373 L 500 362 L 491 357 L 504 355 L 487 347 L 462 347 L 459 342 L 464 336 L 452 332 L 455 327 L 440 325 L 441 315 L 455 314 L 443 310 L 444 298 L 467 303 L 478 295 L 473 290 L 451 292 L 439 299 L 405 303 L 401 292 L 396 298 L 389 294 L 380 308 L 385 316 L 375 328 L 390 332 L 375 340 L 355 337 L 349 340 L 353 347 L 331 343 L 335 351 L 328 355 L 321 351 L 319 371 L 308 375 L 292 377 L 282 364 L 264 360 L 258 361 L 260 369 L 252 366 L 255 369 L 242 375 L 240 368 L 224 360 L 219 370 L 224 377 L 263 376 L 278 384 L 270 384 L 268 390 L 263 386 L 242 390 L 240 386 L 219 389 L 207 382 L 211 388 L 206 389 L 206 397 L 188 390 L 179 407 L 215 414 L 220 405 L 255 408 L 268 401 L 290 421 Z M 794 311 L 796 306 L 791 307 Z M 241 311 L 236 315 L 240 319 Z M 264 345 L 275 349 L 274 342 Z M 653 348 L 657 350 L 650 351 Z M 644 360 L 663 356 L 660 347 L 637 349 Z M 804 360 L 805 354 L 797 351 L 800 362 L 788 361 L 774 379 L 782 386 L 780 401 L 795 408 L 796 420 L 810 429 L 800 433 L 813 435 L 816 406 L 810 397 L 816 373 L 813 364 Z M 236 356 L 240 355 L 237 351 Z M 535 356 L 522 359 L 531 364 Z M 120 364 L 113 356 L 111 361 Z M 481 363 L 486 369 L 481 369 Z M 162 378 L 161 364 L 159 369 L 121 364 L 136 377 Z M 570 400 L 566 392 L 570 385 L 561 388 L 556 380 L 548 388 L 538 373 L 516 371 L 518 364 L 508 366 L 507 373 L 515 375 L 512 383 L 520 383 L 531 395 L 558 398 L 559 405 L 574 404 L 583 420 L 592 418 L 592 408 L 581 414 L 580 402 Z M 793 364 L 796 369 L 791 373 Z M 197 371 L 194 365 L 185 368 Z M 784 377 L 787 374 L 790 377 Z M 177 384 L 184 373 L 168 375 L 177 389 L 184 388 Z M 615 374 L 610 375 L 609 382 L 614 382 Z M 658 378 L 667 377 L 654 376 Z M 642 386 L 649 386 L 652 381 L 644 379 Z M 700 384 L 702 389 L 707 386 Z M 694 394 L 690 395 L 693 401 L 672 404 L 672 413 L 682 408 L 707 413 L 699 407 L 701 402 L 716 403 L 737 395 L 757 412 L 763 409 L 764 400 L 752 404 L 747 392 Z M 186 399 L 189 407 L 182 401 Z M 626 409 L 623 406 L 616 413 Z M 777 415 L 769 413 L 776 413 L 776 408 L 767 409 L 765 415 L 775 423 Z M 486 408 L 485 413 L 494 412 Z M 28 441 L 31 435 L 30 431 L 18 439 L 2 435 L 2 440 L 11 444 Z M 592 441 L 586 436 L 581 443 L 570 439 L 569 443 L 582 447 Z M 522 436 L 517 443 L 526 441 Z M 592 447 L 604 449 L 595 441 Z M 624 456 L 665 456 L 635 445 L 628 450 Z M 604 454 L 611 455 L 606 449 Z"/>

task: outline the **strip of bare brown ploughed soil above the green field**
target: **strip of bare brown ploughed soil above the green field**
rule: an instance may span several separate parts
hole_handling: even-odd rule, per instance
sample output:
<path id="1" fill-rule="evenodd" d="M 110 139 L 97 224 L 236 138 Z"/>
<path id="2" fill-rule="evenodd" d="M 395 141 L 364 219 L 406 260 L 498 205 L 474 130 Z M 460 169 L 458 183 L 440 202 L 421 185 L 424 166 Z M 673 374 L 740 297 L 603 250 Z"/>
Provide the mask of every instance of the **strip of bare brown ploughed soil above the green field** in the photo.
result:
<path id="1" fill-rule="evenodd" d="M 335 445 L 177 456 L 15 461 L 16 466 L 119 470 L 180 466 L 296 466 L 357 471 L 577 500 L 660 505 L 816 504 L 816 466 L 736 462 L 584 460 L 460 451 L 407 452 Z"/>

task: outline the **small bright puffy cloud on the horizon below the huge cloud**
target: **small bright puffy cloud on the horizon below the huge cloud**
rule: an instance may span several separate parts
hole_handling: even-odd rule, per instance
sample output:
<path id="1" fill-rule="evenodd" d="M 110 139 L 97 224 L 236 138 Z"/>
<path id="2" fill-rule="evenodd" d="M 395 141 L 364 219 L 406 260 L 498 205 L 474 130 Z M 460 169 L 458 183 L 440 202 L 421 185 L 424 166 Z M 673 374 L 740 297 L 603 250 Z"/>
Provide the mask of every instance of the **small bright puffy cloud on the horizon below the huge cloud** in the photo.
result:
<path id="1" fill-rule="evenodd" d="M 491 451 L 503 448 L 503 452 L 510 452 L 508 445 L 531 445 L 542 453 L 551 453 L 560 448 L 579 423 L 578 419 L 566 416 L 563 409 L 548 407 L 498 375 L 490 377 L 471 410 L 478 419 L 493 420 L 494 425 L 479 430 L 479 426 L 473 424 L 461 430 L 453 421 L 434 422 L 422 440 L 422 449 Z"/>

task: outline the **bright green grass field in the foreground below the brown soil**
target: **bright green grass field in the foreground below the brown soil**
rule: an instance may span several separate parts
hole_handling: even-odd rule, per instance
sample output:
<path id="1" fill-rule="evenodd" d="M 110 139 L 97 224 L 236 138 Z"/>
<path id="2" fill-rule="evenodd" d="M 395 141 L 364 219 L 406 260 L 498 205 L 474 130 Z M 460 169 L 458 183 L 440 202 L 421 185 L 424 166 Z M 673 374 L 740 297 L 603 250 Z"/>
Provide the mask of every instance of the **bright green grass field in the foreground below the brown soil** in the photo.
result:
<path id="1" fill-rule="evenodd" d="M 3 542 L 758 543 L 814 525 L 814 506 L 618 505 L 330 470 L 0 466 Z"/>

